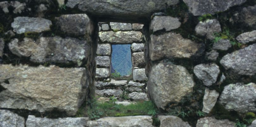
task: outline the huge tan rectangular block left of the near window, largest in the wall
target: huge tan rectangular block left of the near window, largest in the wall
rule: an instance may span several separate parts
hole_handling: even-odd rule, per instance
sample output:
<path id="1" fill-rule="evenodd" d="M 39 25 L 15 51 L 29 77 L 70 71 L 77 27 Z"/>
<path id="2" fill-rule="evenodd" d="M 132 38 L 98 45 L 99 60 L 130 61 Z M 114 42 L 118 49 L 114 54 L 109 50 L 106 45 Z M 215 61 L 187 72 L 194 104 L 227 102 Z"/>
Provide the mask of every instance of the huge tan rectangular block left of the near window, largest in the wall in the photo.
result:
<path id="1" fill-rule="evenodd" d="M 89 77 L 85 68 L 0 65 L 0 108 L 38 112 L 57 109 L 75 115 L 86 98 Z M 6 82 L 8 81 L 8 82 Z M 33 87 L 31 87 L 33 86 Z"/>

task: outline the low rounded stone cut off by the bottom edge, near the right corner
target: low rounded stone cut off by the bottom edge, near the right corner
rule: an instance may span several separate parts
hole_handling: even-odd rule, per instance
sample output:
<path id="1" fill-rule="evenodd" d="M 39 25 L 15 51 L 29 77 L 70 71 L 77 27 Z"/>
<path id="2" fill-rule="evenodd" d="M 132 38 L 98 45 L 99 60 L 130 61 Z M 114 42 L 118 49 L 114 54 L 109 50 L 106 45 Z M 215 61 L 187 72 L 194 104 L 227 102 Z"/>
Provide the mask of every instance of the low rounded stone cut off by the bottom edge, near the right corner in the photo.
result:
<path id="1" fill-rule="evenodd" d="M 200 118 L 196 127 L 235 127 L 235 122 L 228 119 L 217 120 L 213 117 Z"/>

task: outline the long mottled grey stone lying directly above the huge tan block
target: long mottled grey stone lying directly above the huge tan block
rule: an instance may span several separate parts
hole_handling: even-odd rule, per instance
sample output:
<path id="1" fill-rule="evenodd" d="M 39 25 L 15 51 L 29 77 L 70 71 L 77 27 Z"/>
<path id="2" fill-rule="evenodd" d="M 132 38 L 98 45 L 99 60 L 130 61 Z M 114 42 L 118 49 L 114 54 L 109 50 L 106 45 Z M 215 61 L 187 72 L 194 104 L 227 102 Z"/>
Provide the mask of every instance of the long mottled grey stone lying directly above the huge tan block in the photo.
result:
<path id="1" fill-rule="evenodd" d="M 79 66 L 91 55 L 91 47 L 85 40 L 76 38 L 40 37 L 34 41 L 24 38 L 23 41 L 13 39 L 9 44 L 10 51 L 22 57 L 30 57 L 35 63 L 76 63 Z"/>

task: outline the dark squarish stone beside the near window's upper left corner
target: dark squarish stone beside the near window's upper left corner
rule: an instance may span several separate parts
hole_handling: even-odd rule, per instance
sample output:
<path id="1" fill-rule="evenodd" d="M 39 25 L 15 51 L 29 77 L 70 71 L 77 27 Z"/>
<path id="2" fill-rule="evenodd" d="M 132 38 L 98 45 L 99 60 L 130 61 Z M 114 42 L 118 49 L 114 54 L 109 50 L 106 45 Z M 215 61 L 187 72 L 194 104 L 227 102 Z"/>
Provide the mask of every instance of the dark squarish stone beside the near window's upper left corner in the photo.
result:
<path id="1" fill-rule="evenodd" d="M 61 15 L 55 20 L 60 30 L 68 35 L 91 36 L 94 32 L 93 22 L 86 14 Z"/>

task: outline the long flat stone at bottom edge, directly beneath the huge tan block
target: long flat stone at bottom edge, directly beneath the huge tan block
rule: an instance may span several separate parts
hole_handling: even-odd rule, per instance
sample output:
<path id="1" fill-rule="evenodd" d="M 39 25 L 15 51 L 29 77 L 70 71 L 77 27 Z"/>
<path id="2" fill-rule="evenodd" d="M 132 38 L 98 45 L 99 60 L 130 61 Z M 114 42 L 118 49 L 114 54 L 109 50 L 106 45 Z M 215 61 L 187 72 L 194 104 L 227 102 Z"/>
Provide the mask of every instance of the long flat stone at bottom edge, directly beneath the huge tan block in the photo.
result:
<path id="1" fill-rule="evenodd" d="M 84 127 L 89 121 L 88 117 L 80 118 L 40 118 L 29 115 L 26 121 L 26 127 Z"/>

